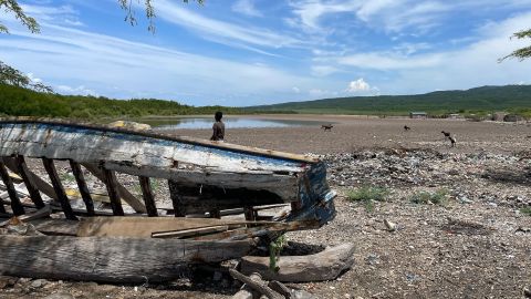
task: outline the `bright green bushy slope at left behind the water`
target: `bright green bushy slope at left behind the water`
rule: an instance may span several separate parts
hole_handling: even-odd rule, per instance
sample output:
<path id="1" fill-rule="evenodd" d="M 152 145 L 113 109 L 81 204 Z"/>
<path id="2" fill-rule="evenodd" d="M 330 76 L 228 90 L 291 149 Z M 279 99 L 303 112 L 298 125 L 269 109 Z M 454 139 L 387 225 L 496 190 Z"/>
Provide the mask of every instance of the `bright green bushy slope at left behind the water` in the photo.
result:
<path id="1" fill-rule="evenodd" d="M 113 100 L 104 96 L 61 95 L 0 84 L 0 116 L 44 116 L 70 118 L 139 117 L 147 115 L 188 115 L 242 113 L 236 107 L 196 107 L 156 99 Z"/>

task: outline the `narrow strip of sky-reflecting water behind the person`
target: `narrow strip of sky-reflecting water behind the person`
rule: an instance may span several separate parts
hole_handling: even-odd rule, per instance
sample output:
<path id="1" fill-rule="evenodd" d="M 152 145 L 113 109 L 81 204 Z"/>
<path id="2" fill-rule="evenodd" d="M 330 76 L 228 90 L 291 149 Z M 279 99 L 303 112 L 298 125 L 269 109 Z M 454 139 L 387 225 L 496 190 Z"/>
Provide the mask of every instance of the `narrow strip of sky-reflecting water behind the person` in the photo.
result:
<path id="1" fill-rule="evenodd" d="M 214 124 L 212 118 L 201 117 L 186 117 L 173 120 L 143 120 L 156 130 L 176 130 L 176 128 L 211 128 Z M 227 117 L 223 118 L 227 128 L 236 127 L 288 127 L 288 126 L 304 126 L 317 125 L 319 122 L 313 121 L 292 121 L 292 120 L 256 120 L 244 117 Z"/>

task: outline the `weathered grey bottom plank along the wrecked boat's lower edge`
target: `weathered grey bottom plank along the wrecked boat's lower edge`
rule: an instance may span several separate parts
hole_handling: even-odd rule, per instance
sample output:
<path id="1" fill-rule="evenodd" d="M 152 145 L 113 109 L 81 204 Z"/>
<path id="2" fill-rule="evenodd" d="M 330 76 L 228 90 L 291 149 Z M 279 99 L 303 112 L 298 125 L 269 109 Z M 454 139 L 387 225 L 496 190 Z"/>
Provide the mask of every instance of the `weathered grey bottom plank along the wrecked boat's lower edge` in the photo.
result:
<path id="1" fill-rule="evenodd" d="M 178 278 L 190 264 L 244 256 L 251 243 L 0 236 L 0 248 L 1 275 L 145 283 Z"/>

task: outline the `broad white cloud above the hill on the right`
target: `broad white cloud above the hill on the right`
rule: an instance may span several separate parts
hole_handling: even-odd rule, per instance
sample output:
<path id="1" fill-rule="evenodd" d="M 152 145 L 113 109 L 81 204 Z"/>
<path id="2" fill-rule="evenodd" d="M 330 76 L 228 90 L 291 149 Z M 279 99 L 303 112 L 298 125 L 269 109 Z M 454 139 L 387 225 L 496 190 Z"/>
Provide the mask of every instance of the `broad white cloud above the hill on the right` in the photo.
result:
<path id="1" fill-rule="evenodd" d="M 476 33 L 478 41 L 457 50 L 412 55 L 360 53 L 336 58 L 336 62 L 354 70 L 388 73 L 391 79 L 378 82 L 378 86 L 389 94 L 514 84 L 529 81 L 529 62 L 506 60 L 498 63 L 498 59 L 529 44 L 529 41 L 510 40 L 509 37 L 530 23 L 531 12 L 490 23 Z"/>

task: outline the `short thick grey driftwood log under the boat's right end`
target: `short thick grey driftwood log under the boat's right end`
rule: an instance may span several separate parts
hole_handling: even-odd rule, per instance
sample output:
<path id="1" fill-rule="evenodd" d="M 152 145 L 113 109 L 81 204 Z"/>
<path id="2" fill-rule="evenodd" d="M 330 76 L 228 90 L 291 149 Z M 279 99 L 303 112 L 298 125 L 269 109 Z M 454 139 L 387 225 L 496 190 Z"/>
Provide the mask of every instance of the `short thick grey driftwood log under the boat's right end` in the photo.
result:
<path id="1" fill-rule="evenodd" d="M 343 244 L 309 256 L 280 257 L 278 272 L 269 269 L 269 257 L 243 257 L 241 272 L 259 272 L 266 280 L 309 282 L 335 279 L 354 264 L 354 245 Z"/>

